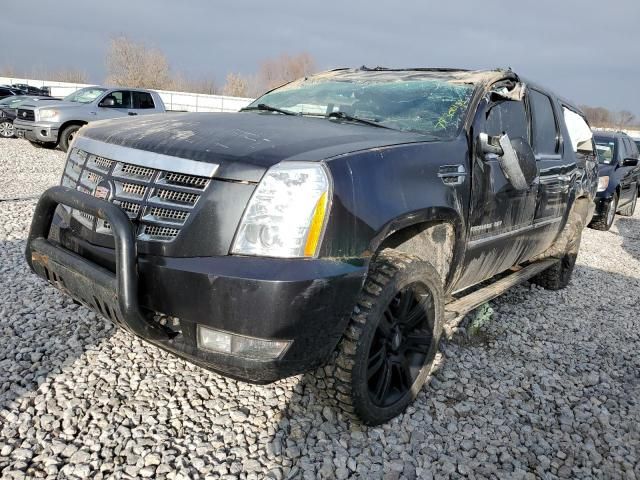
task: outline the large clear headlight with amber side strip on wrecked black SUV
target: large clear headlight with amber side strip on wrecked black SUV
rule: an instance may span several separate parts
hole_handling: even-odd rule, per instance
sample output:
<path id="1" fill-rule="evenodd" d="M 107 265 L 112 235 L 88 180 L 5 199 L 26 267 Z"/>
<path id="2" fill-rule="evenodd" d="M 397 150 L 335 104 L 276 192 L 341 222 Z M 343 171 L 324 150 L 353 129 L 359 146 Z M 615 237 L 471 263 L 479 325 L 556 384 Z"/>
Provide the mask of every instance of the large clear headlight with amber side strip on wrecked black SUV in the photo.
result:
<path id="1" fill-rule="evenodd" d="M 311 162 L 274 165 L 256 187 L 231 249 L 241 255 L 314 257 L 324 231 L 331 182 Z"/>

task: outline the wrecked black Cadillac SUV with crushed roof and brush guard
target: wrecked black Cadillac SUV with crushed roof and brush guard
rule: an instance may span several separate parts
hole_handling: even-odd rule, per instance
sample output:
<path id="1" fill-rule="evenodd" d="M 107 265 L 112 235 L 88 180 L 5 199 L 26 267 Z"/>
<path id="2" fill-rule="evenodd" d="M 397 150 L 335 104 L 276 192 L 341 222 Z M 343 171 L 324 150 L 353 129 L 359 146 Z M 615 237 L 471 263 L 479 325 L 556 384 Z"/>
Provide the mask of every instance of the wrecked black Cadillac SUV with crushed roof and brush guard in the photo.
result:
<path id="1" fill-rule="evenodd" d="M 527 279 L 569 283 L 596 188 L 580 111 L 510 70 L 338 69 L 241 113 L 83 127 L 26 258 L 224 375 L 325 366 L 377 424 L 415 399 L 446 324 Z"/>

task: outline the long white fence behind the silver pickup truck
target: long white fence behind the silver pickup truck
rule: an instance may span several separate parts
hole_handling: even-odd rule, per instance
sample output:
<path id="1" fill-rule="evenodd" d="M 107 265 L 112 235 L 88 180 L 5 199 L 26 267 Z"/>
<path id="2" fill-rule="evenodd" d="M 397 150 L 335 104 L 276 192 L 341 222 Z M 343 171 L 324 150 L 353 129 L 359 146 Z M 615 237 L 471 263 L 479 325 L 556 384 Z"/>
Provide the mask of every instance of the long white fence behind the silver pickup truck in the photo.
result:
<path id="1" fill-rule="evenodd" d="M 80 83 L 50 82 L 29 78 L 0 77 L 0 85 L 26 84 L 32 87 L 48 87 L 54 97 L 67 95 L 90 85 Z M 186 110 L 188 112 L 237 112 L 253 99 L 227 97 L 224 95 L 204 95 L 200 93 L 171 92 L 156 90 L 168 110 Z"/>

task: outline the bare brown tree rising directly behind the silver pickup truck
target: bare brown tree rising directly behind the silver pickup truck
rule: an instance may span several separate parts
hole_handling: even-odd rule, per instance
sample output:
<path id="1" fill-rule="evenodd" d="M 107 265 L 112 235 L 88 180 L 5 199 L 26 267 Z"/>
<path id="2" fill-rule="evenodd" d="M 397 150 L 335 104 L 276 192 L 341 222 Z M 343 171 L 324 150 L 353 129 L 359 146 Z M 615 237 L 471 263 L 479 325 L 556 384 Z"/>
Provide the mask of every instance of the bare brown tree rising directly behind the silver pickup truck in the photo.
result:
<path id="1" fill-rule="evenodd" d="M 107 83 L 111 85 L 171 88 L 169 63 L 164 54 L 124 36 L 111 40 L 107 72 Z"/>

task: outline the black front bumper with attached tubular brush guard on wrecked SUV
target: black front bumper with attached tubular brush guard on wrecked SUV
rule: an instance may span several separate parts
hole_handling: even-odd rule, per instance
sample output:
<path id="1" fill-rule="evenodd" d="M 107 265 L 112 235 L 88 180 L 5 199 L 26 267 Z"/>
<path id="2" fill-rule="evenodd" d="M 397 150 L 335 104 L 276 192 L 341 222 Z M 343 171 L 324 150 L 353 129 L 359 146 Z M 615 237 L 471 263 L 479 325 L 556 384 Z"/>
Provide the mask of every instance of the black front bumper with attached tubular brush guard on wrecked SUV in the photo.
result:
<path id="1" fill-rule="evenodd" d="M 68 229 L 53 228 L 49 236 L 60 203 L 109 221 L 115 261 L 113 250 L 89 244 Z M 362 261 L 137 256 L 122 210 L 64 187 L 43 194 L 26 255 L 38 275 L 131 333 L 202 367 L 254 383 L 325 362 L 366 275 Z M 180 331 L 151 320 L 154 312 L 178 318 Z M 213 353 L 198 348 L 198 324 L 291 344 L 277 359 Z"/>

